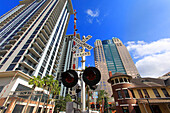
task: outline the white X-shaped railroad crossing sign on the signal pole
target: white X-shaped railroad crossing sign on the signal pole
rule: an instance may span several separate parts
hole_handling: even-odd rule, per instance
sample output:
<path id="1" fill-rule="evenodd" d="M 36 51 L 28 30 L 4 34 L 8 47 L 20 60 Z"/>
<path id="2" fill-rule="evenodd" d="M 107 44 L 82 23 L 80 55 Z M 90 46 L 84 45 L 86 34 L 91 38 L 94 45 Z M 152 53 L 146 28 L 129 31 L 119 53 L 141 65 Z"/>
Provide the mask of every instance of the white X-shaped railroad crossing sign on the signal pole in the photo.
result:
<path id="1" fill-rule="evenodd" d="M 87 42 L 92 36 L 88 35 L 86 38 L 84 38 L 82 41 L 78 38 L 73 38 L 73 41 L 76 42 L 76 45 L 72 48 L 72 51 L 76 51 L 80 46 L 85 47 L 88 50 L 91 50 L 93 47 L 89 44 L 85 43 Z"/>

